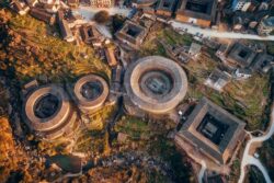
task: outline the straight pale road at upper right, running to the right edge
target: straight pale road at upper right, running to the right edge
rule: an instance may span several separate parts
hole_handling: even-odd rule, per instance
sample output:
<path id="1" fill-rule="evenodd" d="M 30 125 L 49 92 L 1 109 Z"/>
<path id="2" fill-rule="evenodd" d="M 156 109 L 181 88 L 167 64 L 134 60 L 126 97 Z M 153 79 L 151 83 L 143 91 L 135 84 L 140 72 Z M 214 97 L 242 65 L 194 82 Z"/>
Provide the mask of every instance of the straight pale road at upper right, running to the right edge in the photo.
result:
<path id="1" fill-rule="evenodd" d="M 242 34 L 242 33 L 233 33 L 233 32 L 218 32 L 212 28 L 201 28 L 198 26 L 194 26 L 192 24 L 176 22 L 174 20 L 169 21 L 174 28 L 187 28 L 187 33 L 195 35 L 196 33 L 204 34 L 204 36 L 209 37 L 220 37 L 220 38 L 232 38 L 232 39 L 259 39 L 259 41 L 274 41 L 274 36 L 259 36 L 252 34 Z"/>

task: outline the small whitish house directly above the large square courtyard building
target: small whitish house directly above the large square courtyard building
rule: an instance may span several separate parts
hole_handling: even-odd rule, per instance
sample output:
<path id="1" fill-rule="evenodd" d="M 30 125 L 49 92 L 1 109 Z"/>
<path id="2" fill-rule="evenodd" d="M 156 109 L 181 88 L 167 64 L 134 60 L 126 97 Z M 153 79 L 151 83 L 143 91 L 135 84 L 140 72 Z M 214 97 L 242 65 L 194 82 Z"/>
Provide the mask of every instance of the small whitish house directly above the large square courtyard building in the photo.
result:
<path id="1" fill-rule="evenodd" d="M 221 92 L 229 81 L 230 76 L 227 72 L 219 69 L 214 69 L 209 77 L 206 79 L 205 85 Z"/>

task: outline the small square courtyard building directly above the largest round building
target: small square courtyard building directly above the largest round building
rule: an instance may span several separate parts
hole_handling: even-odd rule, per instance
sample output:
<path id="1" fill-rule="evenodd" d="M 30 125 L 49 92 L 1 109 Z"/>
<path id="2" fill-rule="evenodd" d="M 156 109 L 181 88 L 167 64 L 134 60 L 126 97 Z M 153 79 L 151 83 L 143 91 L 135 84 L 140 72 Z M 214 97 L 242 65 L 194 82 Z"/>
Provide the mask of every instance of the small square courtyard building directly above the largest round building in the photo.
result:
<path id="1" fill-rule="evenodd" d="M 116 32 L 115 37 L 132 48 L 138 48 L 142 44 L 147 33 L 146 27 L 127 20 L 122 30 Z"/>

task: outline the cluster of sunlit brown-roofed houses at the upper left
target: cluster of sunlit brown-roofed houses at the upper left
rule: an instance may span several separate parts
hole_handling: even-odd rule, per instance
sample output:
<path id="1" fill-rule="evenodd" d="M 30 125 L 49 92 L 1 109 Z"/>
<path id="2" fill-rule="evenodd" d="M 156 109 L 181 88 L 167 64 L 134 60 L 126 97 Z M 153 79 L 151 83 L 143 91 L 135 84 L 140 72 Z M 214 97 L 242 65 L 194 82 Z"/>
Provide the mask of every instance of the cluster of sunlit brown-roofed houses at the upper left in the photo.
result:
<path id="1" fill-rule="evenodd" d="M 30 13 L 33 18 L 49 25 L 57 24 L 61 37 L 67 42 L 87 43 L 101 46 L 105 38 L 99 33 L 93 22 L 85 21 L 72 11 L 79 1 L 68 0 L 12 0 L 10 8 L 21 15 Z M 68 7 L 69 5 L 69 7 Z"/>

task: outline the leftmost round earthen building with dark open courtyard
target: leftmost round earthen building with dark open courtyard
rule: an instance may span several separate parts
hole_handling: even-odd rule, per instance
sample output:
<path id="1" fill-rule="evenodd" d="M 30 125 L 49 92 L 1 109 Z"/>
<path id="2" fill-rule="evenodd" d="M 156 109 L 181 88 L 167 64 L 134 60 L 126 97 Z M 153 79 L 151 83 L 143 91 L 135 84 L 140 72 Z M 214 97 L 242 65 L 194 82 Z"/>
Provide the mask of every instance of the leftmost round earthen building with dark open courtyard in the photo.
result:
<path id="1" fill-rule="evenodd" d="M 80 125 L 67 93 L 55 84 L 28 93 L 24 102 L 24 116 L 27 126 L 48 140 L 70 136 Z"/>

